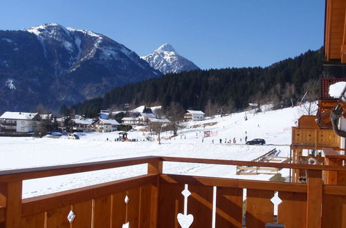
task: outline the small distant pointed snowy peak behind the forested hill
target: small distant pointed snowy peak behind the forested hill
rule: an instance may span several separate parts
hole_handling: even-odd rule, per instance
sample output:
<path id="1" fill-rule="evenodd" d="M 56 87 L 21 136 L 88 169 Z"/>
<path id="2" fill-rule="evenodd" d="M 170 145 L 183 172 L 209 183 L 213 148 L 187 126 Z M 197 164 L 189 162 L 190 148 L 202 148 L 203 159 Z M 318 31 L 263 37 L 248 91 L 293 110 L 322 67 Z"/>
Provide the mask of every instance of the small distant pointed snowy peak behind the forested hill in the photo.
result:
<path id="1" fill-rule="evenodd" d="M 162 73 L 179 73 L 199 69 L 192 61 L 176 53 L 170 44 L 163 44 L 153 53 L 141 58 L 145 59 L 152 68 L 160 70 Z"/>

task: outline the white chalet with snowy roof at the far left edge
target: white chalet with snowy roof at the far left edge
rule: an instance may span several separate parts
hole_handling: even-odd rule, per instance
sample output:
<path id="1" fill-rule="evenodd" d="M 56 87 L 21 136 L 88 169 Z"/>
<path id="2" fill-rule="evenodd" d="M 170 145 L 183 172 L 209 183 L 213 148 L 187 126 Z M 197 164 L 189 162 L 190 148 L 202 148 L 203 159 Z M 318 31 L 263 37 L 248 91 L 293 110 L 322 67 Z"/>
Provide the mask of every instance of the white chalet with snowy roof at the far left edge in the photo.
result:
<path id="1" fill-rule="evenodd" d="M 39 113 L 5 112 L 0 116 L 0 133 L 25 135 L 35 131 L 40 119 Z"/>

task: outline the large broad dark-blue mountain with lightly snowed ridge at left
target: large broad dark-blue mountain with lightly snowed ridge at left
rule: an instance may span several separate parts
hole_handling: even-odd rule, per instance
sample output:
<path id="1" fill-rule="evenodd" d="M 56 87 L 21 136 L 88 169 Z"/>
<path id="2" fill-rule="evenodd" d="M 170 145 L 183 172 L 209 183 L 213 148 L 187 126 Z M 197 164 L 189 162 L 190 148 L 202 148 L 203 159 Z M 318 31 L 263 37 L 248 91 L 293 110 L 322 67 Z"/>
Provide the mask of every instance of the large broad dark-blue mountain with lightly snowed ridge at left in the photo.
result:
<path id="1" fill-rule="evenodd" d="M 56 109 L 161 75 L 122 44 L 57 23 L 0 30 L 0 50 L 0 111 Z"/>

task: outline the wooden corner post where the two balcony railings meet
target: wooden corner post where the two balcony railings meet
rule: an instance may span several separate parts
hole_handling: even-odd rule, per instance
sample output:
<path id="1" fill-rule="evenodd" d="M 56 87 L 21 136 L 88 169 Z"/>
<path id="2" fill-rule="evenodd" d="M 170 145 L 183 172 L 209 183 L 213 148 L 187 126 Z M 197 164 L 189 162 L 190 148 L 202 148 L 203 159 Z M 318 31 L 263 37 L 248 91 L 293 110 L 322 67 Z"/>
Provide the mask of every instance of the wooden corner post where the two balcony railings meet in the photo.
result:
<path id="1" fill-rule="evenodd" d="M 148 174 L 157 174 L 157 182 L 152 184 L 152 200 L 150 205 L 150 227 L 158 226 L 158 200 L 160 192 L 160 174 L 162 174 L 163 161 L 158 159 L 148 162 Z"/>

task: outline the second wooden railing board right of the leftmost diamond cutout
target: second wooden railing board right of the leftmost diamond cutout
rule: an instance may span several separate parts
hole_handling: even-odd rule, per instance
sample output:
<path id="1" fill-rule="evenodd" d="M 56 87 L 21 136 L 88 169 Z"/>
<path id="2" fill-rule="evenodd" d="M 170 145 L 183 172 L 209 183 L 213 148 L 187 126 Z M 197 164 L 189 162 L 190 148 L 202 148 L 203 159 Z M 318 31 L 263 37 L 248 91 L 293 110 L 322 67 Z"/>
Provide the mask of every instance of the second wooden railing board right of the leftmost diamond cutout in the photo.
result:
<path id="1" fill-rule="evenodd" d="M 111 225 L 111 196 L 94 200 L 93 227 L 110 227 Z"/>

